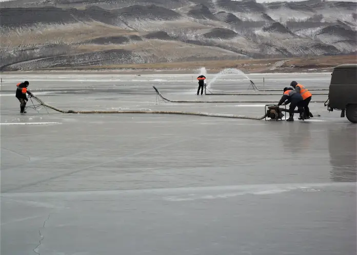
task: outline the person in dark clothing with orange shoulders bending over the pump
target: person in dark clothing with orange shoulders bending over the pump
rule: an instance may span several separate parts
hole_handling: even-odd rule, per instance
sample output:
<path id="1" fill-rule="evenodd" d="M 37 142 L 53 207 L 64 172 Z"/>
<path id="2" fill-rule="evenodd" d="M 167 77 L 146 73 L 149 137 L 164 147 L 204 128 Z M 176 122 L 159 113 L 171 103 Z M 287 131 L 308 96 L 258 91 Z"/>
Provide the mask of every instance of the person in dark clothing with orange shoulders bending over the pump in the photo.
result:
<path id="1" fill-rule="evenodd" d="M 290 102 L 291 104 L 289 107 L 289 118 L 286 121 L 294 121 L 294 111 L 296 106 L 297 106 L 297 110 L 299 110 L 300 113 L 299 119 L 304 120 L 303 97 L 299 93 L 295 92 L 293 88 L 285 87 L 284 95 L 280 99 L 279 103 L 277 103 L 277 106 L 288 105 Z"/>

